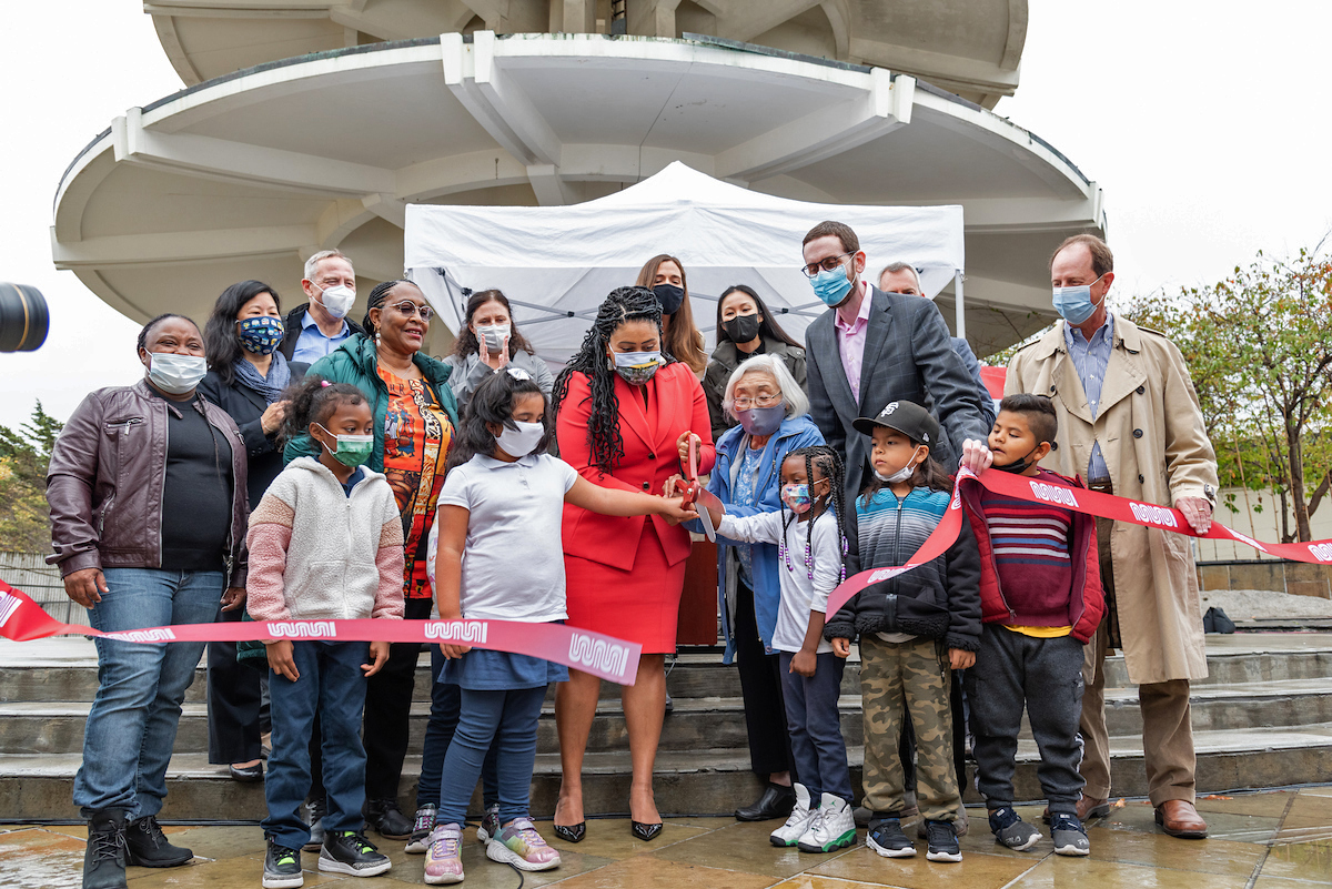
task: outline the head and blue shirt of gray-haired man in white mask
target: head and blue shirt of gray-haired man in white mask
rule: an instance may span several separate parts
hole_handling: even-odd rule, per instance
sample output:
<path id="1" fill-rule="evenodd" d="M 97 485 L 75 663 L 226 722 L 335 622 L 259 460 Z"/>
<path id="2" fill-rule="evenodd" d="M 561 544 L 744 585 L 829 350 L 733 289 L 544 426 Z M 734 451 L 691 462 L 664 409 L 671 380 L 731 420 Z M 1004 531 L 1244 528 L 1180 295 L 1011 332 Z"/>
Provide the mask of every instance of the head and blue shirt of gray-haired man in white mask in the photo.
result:
<path id="1" fill-rule="evenodd" d="M 362 333 L 346 314 L 356 302 L 356 271 L 341 250 L 320 250 L 305 261 L 305 299 L 286 314 L 286 337 L 278 346 L 288 361 L 313 365 L 352 334 Z"/>

